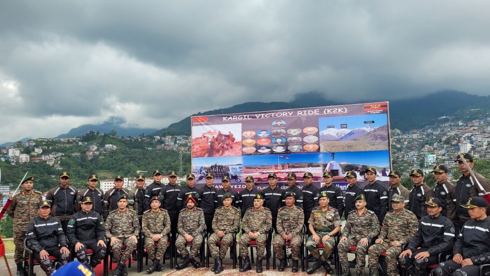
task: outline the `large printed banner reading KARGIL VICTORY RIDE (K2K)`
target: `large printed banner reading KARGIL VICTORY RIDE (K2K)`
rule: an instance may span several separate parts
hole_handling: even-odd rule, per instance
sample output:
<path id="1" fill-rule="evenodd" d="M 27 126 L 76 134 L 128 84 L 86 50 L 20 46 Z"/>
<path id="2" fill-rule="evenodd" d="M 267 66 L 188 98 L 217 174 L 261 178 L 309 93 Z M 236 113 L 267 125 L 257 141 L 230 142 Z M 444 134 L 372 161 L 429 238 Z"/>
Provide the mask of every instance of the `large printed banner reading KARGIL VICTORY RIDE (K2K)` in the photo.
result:
<path id="1" fill-rule="evenodd" d="M 197 187 L 204 185 L 207 172 L 215 176 L 217 188 L 221 178 L 229 176 L 237 191 L 245 188 L 246 176 L 264 189 L 271 172 L 284 189 L 290 172 L 296 174 L 298 186 L 310 172 L 320 187 L 323 172 L 330 171 L 345 191 L 347 171 L 356 171 L 363 186 L 368 166 L 375 167 L 378 179 L 388 186 L 388 102 L 196 116 L 191 122 Z"/>

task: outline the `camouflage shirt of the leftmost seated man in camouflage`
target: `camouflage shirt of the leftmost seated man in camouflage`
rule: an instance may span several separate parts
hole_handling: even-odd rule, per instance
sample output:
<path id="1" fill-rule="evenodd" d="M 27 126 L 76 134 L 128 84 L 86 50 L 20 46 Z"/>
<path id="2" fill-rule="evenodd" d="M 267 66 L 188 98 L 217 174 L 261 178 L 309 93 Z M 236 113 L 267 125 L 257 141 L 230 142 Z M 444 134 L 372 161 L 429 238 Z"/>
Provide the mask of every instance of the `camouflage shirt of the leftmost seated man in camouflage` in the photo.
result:
<path id="1" fill-rule="evenodd" d="M 105 220 L 105 236 L 107 238 L 129 238 L 138 236 L 140 233 L 140 222 L 136 212 L 126 208 L 120 212 L 116 209 L 109 213 Z"/>

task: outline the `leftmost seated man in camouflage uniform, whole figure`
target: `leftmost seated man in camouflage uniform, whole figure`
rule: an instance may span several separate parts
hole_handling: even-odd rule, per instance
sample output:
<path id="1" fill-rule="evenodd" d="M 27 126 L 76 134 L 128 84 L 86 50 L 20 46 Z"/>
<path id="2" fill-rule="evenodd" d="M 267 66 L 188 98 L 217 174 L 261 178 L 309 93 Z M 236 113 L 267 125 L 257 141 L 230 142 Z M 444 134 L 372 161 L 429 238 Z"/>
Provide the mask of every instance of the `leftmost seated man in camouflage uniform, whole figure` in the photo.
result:
<path id="1" fill-rule="evenodd" d="M 127 275 L 126 261 L 136 248 L 141 228 L 136 212 L 127 208 L 126 194 L 119 196 L 117 204 L 118 208 L 110 212 L 105 221 L 105 236 L 110 240 L 114 259 L 118 262 L 113 276 L 125 276 Z M 122 252 L 123 245 L 126 249 Z"/>

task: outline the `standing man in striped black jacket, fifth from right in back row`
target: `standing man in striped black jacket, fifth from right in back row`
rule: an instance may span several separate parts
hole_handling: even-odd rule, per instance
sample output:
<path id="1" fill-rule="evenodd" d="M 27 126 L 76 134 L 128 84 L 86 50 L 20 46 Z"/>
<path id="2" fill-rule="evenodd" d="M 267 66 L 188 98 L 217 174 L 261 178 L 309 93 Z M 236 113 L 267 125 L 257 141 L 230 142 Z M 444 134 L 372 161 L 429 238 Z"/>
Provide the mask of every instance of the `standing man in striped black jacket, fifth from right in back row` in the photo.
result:
<path id="1" fill-rule="evenodd" d="M 366 178 L 368 178 L 368 185 L 364 186 L 364 194 L 366 195 L 366 208 L 373 211 L 378 217 L 379 224 L 383 224 L 383 219 L 386 215 L 386 209 L 388 208 L 388 191 L 381 183 L 376 180 L 378 172 L 373 167 L 368 167 L 364 171 Z"/>

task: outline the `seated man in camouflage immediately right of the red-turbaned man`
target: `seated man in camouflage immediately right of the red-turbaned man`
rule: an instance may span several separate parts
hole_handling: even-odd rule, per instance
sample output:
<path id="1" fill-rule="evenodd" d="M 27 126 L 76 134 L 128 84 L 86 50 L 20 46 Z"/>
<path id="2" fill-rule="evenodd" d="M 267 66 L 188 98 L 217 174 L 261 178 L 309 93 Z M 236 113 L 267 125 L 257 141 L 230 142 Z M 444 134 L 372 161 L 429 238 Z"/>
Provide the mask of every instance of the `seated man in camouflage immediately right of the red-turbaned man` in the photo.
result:
<path id="1" fill-rule="evenodd" d="M 232 195 L 225 193 L 222 201 L 223 206 L 216 208 L 213 217 L 214 233 L 208 239 L 209 251 L 211 251 L 211 256 L 215 259 L 215 264 L 211 271 L 214 271 L 215 274 L 223 271 L 222 260 L 233 243 L 233 236 L 240 224 L 240 209 L 231 205 L 233 201 Z M 221 241 L 221 249 L 218 249 L 216 245 L 219 241 Z"/>

